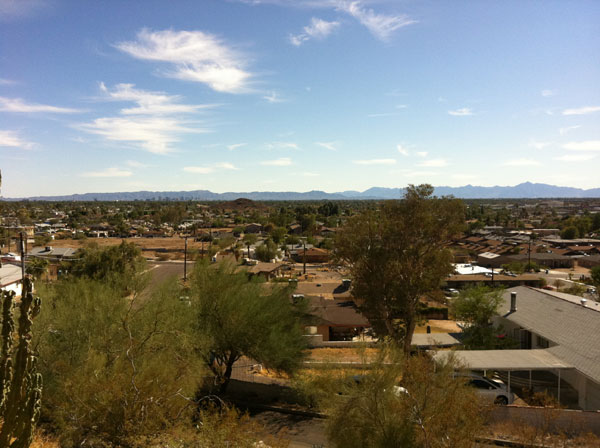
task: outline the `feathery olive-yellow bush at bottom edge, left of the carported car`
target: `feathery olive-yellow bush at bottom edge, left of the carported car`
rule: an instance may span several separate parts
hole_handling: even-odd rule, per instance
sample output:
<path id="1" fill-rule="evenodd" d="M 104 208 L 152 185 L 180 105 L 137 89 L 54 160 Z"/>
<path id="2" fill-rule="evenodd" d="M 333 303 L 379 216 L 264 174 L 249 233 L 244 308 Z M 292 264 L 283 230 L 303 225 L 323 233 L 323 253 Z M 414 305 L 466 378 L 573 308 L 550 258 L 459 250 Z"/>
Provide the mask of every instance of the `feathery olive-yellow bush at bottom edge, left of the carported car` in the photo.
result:
<path id="1" fill-rule="evenodd" d="M 329 442 L 339 448 L 471 447 L 482 416 L 452 362 L 384 357 L 359 376 L 326 380 Z M 328 372 L 328 375 L 332 375 Z"/>

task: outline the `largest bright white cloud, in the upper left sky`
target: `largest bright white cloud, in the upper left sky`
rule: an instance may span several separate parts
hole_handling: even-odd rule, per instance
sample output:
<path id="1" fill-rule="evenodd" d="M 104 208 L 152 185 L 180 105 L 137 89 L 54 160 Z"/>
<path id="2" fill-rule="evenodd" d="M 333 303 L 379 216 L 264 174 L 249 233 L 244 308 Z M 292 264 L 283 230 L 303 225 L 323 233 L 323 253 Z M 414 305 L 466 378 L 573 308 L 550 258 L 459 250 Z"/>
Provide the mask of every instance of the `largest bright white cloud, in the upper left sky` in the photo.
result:
<path id="1" fill-rule="evenodd" d="M 202 31 L 142 29 L 136 41 L 116 47 L 137 59 L 170 63 L 173 69 L 166 76 L 204 83 L 218 92 L 247 91 L 252 78 L 244 55 Z"/>

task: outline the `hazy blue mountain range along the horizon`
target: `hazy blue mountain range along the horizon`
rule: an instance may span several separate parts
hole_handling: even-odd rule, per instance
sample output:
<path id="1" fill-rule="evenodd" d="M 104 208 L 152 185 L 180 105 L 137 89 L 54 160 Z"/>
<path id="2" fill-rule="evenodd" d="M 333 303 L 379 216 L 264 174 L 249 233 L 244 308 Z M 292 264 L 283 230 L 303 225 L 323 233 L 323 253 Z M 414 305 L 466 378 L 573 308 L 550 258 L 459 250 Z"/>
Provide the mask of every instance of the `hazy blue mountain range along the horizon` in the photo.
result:
<path id="1" fill-rule="evenodd" d="M 208 190 L 194 191 L 135 191 L 123 193 L 84 193 L 65 196 L 34 196 L 29 198 L 2 198 L 5 201 L 152 201 L 152 200 L 196 200 L 231 201 L 247 198 L 254 201 L 307 201 L 307 200 L 343 200 L 343 199 L 399 199 L 403 188 L 373 187 L 365 191 L 342 191 L 326 193 L 324 191 L 253 191 L 249 193 L 228 192 L 213 193 Z M 533 198 L 600 198 L 600 188 L 583 190 L 581 188 L 557 187 L 548 184 L 524 182 L 513 187 L 435 187 L 437 196 L 453 195 L 463 199 L 533 199 Z"/>

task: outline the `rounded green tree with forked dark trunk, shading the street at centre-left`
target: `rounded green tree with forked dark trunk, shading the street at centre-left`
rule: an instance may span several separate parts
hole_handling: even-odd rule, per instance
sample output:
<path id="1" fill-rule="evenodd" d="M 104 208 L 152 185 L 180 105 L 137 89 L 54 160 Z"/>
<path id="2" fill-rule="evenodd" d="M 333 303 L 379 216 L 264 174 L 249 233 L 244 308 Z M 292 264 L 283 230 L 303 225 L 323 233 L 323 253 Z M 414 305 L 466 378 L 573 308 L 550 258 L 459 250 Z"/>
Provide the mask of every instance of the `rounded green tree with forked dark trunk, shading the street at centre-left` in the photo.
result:
<path id="1" fill-rule="evenodd" d="M 242 356 L 268 369 L 293 372 L 305 348 L 301 305 L 289 287 L 264 288 L 229 264 L 196 264 L 189 298 L 201 350 L 220 393 L 227 390 L 233 364 Z M 270 285 L 269 285 L 270 286 Z"/>

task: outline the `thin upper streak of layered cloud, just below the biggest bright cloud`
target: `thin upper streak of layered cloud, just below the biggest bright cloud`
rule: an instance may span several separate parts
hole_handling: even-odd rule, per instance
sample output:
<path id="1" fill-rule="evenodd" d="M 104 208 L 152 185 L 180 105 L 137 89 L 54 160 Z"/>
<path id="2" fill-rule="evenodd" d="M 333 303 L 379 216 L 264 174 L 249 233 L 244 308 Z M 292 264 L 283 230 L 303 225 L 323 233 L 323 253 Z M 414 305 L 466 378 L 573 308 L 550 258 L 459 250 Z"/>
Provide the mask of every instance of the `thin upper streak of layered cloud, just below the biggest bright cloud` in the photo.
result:
<path id="1" fill-rule="evenodd" d="M 104 83 L 100 83 L 100 90 L 106 94 L 106 99 L 137 103 L 137 107 L 121 109 L 123 115 L 189 114 L 212 107 L 212 105 L 179 104 L 181 97 L 177 95 L 136 89 L 134 84 L 117 84 L 110 90 Z"/>

